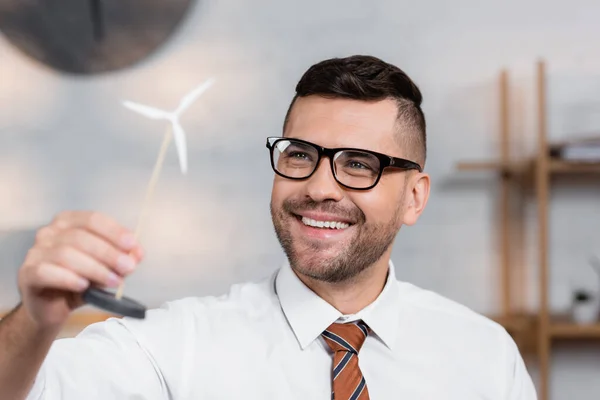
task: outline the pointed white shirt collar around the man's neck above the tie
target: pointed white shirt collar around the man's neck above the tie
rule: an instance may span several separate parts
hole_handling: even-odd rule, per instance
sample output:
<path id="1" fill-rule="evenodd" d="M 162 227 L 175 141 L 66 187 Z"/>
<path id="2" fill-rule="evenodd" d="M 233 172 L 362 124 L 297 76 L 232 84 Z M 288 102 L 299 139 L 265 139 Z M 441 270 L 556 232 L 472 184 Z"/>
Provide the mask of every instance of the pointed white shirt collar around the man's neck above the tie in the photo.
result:
<path id="1" fill-rule="evenodd" d="M 283 313 L 302 349 L 309 346 L 338 319 L 362 319 L 390 349 L 393 348 L 400 318 L 399 287 L 393 263 L 389 263 L 386 284 L 377 299 L 355 316 L 344 316 L 309 289 L 286 262 L 277 273 L 275 290 Z"/>

